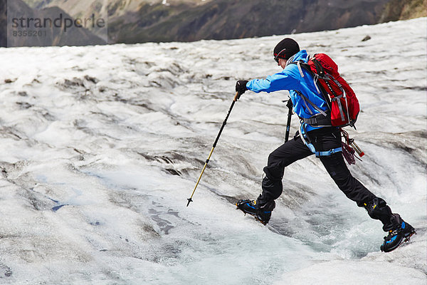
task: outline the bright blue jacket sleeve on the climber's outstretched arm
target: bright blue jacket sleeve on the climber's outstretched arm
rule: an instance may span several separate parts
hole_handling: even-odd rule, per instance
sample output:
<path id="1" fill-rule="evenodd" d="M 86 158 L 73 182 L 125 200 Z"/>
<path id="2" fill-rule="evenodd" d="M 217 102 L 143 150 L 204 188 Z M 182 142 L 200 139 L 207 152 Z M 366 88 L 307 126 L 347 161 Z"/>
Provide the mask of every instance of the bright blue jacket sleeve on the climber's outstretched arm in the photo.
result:
<path id="1" fill-rule="evenodd" d="M 278 90 L 298 90 L 299 76 L 295 68 L 288 66 L 283 71 L 275 73 L 272 76 L 267 76 L 265 79 L 253 79 L 246 84 L 246 88 L 255 93 L 273 92 Z M 297 73 L 297 74 L 296 74 Z"/>

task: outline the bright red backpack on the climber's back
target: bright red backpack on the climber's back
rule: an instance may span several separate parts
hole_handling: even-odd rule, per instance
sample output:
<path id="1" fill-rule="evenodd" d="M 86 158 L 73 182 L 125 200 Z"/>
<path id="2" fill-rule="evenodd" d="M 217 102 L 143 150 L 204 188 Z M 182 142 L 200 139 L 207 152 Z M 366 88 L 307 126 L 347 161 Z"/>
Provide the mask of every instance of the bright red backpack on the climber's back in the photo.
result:
<path id="1" fill-rule="evenodd" d="M 353 89 L 339 76 L 337 63 L 325 53 L 317 53 L 307 63 L 297 62 L 312 73 L 330 108 L 334 127 L 354 127 L 360 107 Z"/>

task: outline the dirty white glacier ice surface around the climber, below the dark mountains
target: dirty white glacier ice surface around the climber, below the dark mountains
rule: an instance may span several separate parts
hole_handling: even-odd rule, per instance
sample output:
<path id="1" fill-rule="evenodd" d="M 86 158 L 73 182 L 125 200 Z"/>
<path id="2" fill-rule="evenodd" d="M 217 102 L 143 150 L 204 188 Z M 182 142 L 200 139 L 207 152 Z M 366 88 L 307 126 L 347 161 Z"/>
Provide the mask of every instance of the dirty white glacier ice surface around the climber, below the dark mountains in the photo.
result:
<path id="1" fill-rule="evenodd" d="M 2 48 L 0 283 L 425 284 L 426 19 L 293 37 L 356 91 L 351 171 L 411 244 L 379 252 L 381 223 L 315 157 L 288 167 L 268 227 L 235 210 L 283 142 L 286 92 L 242 95 L 186 207 L 236 80 L 279 71 L 283 36 Z"/>

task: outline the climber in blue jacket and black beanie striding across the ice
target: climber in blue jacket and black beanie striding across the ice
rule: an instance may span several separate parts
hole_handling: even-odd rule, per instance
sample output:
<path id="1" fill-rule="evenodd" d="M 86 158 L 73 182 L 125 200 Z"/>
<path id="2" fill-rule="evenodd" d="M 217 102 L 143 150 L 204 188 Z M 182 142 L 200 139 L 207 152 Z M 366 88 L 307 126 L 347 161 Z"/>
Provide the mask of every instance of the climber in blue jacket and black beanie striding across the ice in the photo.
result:
<path id="1" fill-rule="evenodd" d="M 245 93 L 246 90 L 252 90 L 255 93 L 289 90 L 293 111 L 298 117 L 309 118 L 307 114 L 319 113 L 318 109 L 327 112 L 327 103 L 322 95 L 316 92 L 312 75 L 308 71 L 302 70 L 304 76 L 310 76 L 302 78 L 301 70 L 297 64 L 290 64 L 296 61 L 307 62 L 309 58 L 307 51 L 300 51 L 300 46 L 292 38 L 284 38 L 275 46 L 273 56 L 283 71 L 268 76 L 266 79 L 237 81 L 236 92 L 238 92 L 238 96 Z M 306 80 L 307 78 L 311 78 L 311 80 Z M 317 108 L 306 104 L 302 95 L 316 103 Z M 349 172 L 341 152 L 339 128 L 332 126 L 316 127 L 303 123 L 303 121 L 301 127 L 292 140 L 280 145 L 268 156 L 268 165 L 263 169 L 265 177 L 262 181 L 262 193 L 258 199 L 241 199 L 236 203 L 238 209 L 253 215 L 263 224 L 267 224 L 275 208 L 275 199 L 278 199 L 283 192 L 282 179 L 285 167 L 292 162 L 313 155 L 312 150 L 307 145 L 307 141 L 309 141 L 312 142 L 315 150 L 321 153 L 321 155 L 317 153 L 320 162 L 339 189 L 344 192 L 344 195 L 356 202 L 357 206 L 367 209 L 372 219 L 379 219 L 382 222 L 384 232 L 389 232 L 388 236 L 384 237 L 381 251 L 390 252 L 396 249 L 404 240 L 406 241 L 415 233 L 415 229 L 404 222 L 399 214 L 391 212 L 384 199 L 376 197 Z"/>

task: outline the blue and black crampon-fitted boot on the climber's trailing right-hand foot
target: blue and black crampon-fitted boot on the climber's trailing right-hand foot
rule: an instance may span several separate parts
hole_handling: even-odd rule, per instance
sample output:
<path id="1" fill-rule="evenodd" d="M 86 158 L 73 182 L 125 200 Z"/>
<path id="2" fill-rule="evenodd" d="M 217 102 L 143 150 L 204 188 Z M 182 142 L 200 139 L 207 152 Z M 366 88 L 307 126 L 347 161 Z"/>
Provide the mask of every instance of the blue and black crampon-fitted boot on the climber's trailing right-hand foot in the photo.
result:
<path id="1" fill-rule="evenodd" d="M 381 252 L 391 252 L 407 242 L 413 234 L 416 234 L 415 229 L 405 222 L 399 214 L 392 214 L 389 224 L 384 224 L 384 231 L 388 231 L 389 235 L 384 237 L 384 244 L 381 245 Z"/>

